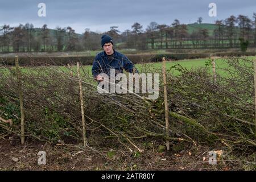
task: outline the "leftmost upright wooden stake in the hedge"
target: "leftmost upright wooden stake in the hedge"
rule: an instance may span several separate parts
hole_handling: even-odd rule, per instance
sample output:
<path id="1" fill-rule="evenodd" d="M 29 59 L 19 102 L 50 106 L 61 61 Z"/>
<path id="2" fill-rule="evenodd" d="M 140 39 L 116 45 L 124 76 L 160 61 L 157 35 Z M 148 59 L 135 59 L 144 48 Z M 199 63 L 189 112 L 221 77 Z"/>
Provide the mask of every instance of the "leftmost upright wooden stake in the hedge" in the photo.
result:
<path id="1" fill-rule="evenodd" d="M 22 78 L 19 70 L 19 58 L 15 56 L 15 66 L 16 66 L 16 77 L 18 81 L 18 93 L 19 93 L 19 106 L 20 106 L 20 126 L 21 126 L 21 144 L 25 142 L 25 117 L 24 117 L 24 106 L 23 106 L 23 92 L 22 92 Z"/>

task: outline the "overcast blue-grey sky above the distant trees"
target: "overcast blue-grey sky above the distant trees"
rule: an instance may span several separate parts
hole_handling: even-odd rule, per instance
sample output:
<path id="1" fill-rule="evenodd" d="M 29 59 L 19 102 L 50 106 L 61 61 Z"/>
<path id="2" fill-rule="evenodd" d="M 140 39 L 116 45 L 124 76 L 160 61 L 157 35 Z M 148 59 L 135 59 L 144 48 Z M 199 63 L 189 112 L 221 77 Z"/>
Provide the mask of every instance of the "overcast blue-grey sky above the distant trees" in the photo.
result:
<path id="1" fill-rule="evenodd" d="M 39 3 L 46 4 L 46 17 L 39 17 Z M 209 3 L 216 3 L 217 17 L 210 17 Z M 0 26 L 33 23 L 35 27 L 71 26 L 77 33 L 108 31 L 118 26 L 120 31 L 131 29 L 134 22 L 143 28 L 154 21 L 170 25 L 174 19 L 181 23 L 194 23 L 203 17 L 203 23 L 214 23 L 230 15 L 256 13 L 255 0 L 0 0 Z"/>

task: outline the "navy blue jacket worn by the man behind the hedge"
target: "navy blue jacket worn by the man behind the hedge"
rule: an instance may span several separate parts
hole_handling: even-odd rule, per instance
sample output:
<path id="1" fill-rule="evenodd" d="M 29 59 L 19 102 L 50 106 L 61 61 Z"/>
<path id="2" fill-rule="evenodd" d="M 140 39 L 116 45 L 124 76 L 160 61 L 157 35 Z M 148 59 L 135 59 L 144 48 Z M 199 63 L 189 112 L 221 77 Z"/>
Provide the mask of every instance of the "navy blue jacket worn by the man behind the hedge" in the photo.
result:
<path id="1" fill-rule="evenodd" d="M 117 73 L 123 73 L 123 69 L 129 73 L 138 73 L 134 64 L 122 53 L 114 51 L 113 59 L 109 60 L 105 51 L 98 53 L 93 61 L 92 74 L 96 78 L 100 73 L 110 76 L 110 69 L 115 69 Z"/>

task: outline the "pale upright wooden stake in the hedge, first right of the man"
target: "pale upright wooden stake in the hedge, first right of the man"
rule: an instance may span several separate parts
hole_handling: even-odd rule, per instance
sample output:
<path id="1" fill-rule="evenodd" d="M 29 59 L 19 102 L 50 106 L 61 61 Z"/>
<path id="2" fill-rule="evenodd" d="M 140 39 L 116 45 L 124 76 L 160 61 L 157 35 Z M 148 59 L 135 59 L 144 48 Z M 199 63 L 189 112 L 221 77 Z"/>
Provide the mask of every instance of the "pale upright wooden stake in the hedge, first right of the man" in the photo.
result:
<path id="1" fill-rule="evenodd" d="M 166 58 L 163 57 L 163 82 L 164 82 L 164 110 L 165 110 L 165 116 L 166 116 L 166 138 L 169 138 L 169 121 L 168 121 L 168 102 L 167 102 L 167 82 L 166 82 Z M 170 150 L 170 142 L 169 140 L 166 140 L 166 148 L 167 150 Z"/>

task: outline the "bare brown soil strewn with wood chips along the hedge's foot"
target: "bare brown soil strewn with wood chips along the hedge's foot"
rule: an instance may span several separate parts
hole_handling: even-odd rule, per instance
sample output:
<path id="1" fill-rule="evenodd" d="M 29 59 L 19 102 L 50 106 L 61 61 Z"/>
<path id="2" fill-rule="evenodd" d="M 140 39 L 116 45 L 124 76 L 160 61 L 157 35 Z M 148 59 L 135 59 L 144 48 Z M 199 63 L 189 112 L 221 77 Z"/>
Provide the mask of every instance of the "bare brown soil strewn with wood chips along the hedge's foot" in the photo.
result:
<path id="1" fill-rule="evenodd" d="M 46 152 L 46 165 L 38 165 L 38 152 Z M 148 149 L 141 155 L 115 151 L 114 162 L 93 151 L 82 151 L 63 144 L 27 142 L 19 139 L 0 139 L 1 170 L 233 170 L 234 166 L 208 163 L 207 146 L 187 146 L 180 152 L 157 152 Z M 18 162 L 15 159 L 18 159 Z M 236 165 L 237 166 L 237 165 Z M 237 169 L 237 168 L 236 168 Z"/>

